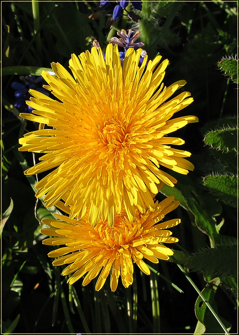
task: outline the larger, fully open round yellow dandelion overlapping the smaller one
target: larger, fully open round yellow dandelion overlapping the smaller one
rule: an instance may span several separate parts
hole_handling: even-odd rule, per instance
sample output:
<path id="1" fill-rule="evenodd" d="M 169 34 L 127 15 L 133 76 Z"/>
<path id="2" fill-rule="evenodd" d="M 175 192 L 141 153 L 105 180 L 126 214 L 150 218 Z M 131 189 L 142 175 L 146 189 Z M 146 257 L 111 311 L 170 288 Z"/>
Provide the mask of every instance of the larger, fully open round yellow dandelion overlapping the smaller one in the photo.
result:
<path id="1" fill-rule="evenodd" d="M 171 147 L 184 141 L 167 136 L 197 122 L 195 116 L 169 120 L 193 101 L 183 92 L 166 102 L 186 82 L 164 87 L 168 60 L 159 64 L 157 56 L 147 63 L 146 55 L 139 66 L 141 52 L 129 48 L 123 66 L 117 45 L 107 46 L 105 59 L 96 47 L 79 57 L 73 54 L 69 67 L 75 79 L 52 63 L 56 76 L 43 71 L 49 83 L 44 87 L 61 102 L 30 90 L 34 98 L 28 105 L 36 115 L 21 116 L 53 129 L 27 133 L 19 150 L 45 153 L 26 175 L 56 168 L 36 185 L 37 197 L 47 193 L 46 207 L 63 199 L 71 207 L 70 218 L 81 218 L 89 207 L 93 226 L 99 218 L 113 226 L 124 205 L 133 223 L 136 206 L 141 213 L 147 207 L 153 211 L 158 189 L 177 182 L 161 165 L 181 174 L 193 170 L 183 158 L 190 153 Z"/>

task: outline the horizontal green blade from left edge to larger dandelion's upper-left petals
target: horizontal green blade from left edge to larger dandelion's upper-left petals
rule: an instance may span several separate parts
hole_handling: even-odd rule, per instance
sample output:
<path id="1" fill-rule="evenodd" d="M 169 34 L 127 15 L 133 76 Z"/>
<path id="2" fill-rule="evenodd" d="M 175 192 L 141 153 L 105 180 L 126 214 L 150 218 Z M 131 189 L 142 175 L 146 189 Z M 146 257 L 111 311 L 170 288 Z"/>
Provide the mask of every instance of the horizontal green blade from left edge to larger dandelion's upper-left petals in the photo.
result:
<path id="1" fill-rule="evenodd" d="M 47 67 L 38 66 L 7 66 L 2 68 L 2 76 L 18 74 L 18 75 L 28 75 L 33 74 L 35 76 L 41 76 L 42 71 L 46 71 L 51 76 L 55 76 L 56 73 Z"/>

